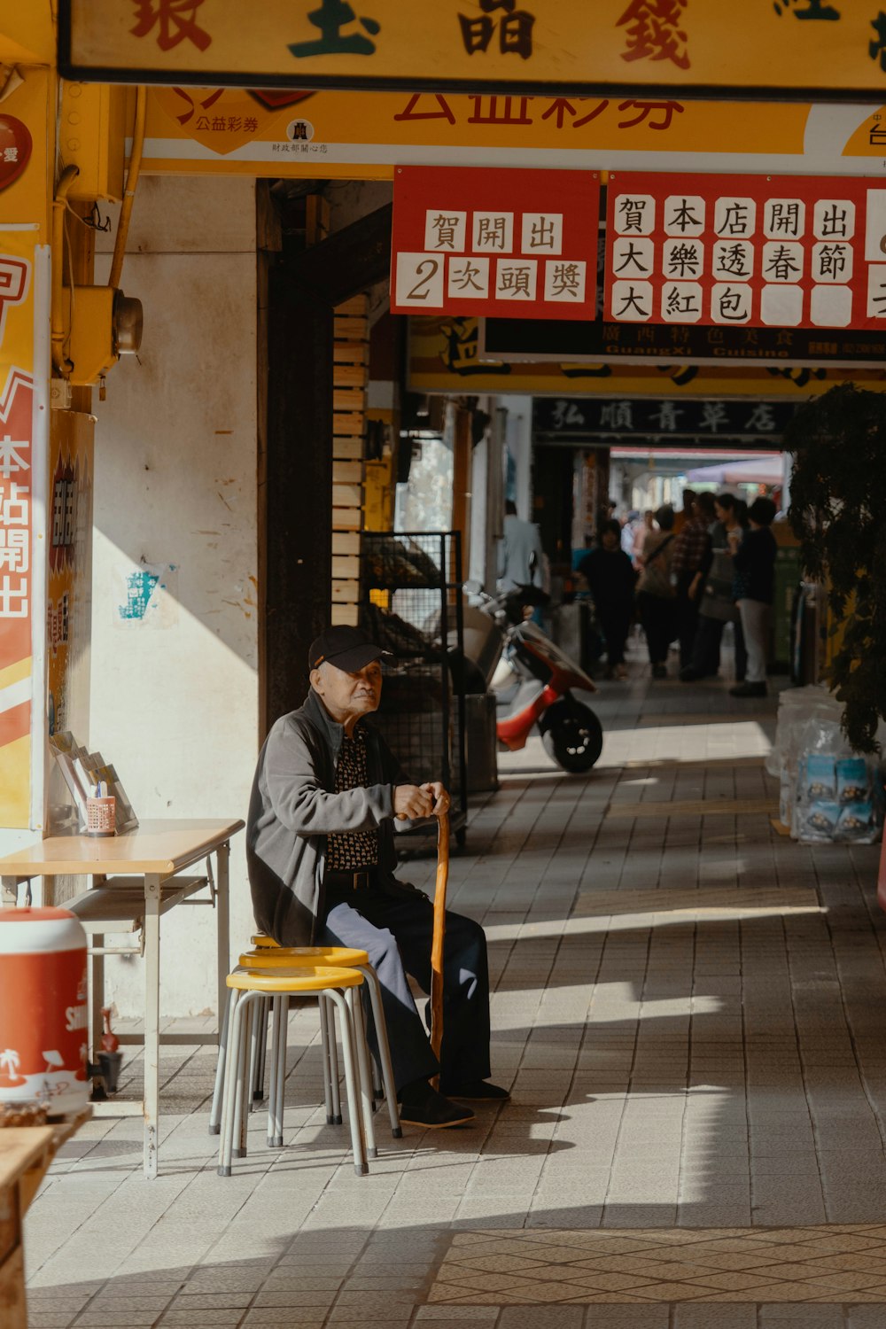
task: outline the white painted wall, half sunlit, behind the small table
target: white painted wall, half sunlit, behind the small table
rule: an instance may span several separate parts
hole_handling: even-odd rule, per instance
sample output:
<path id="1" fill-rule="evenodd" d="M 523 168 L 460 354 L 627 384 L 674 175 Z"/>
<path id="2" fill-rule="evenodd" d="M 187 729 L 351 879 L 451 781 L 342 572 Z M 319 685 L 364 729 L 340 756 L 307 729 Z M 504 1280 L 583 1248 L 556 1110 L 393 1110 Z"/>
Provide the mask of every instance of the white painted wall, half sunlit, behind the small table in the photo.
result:
<path id="1" fill-rule="evenodd" d="M 105 280 L 108 259 L 96 266 Z M 142 820 L 246 817 L 258 755 L 254 182 L 142 178 L 121 286 L 142 300 L 145 334 L 94 405 L 89 746 L 117 766 Z M 167 569 L 165 603 L 153 623 L 124 622 L 125 579 L 146 565 Z M 214 1010 L 214 912 L 181 906 L 161 926 L 162 1014 Z M 240 832 L 234 948 L 251 928 Z M 122 1015 L 143 1009 L 141 968 L 108 964 Z"/>

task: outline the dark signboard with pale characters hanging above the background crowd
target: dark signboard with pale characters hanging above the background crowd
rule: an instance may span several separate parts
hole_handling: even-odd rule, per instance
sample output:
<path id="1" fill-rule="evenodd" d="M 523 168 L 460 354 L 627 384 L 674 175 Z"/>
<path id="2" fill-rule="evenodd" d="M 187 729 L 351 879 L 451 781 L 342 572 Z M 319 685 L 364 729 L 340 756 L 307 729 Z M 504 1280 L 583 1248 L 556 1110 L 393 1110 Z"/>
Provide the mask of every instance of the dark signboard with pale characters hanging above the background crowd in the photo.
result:
<path id="1" fill-rule="evenodd" d="M 543 443 L 631 443 L 777 451 L 793 401 L 673 401 L 654 397 L 535 397 L 533 433 Z"/>

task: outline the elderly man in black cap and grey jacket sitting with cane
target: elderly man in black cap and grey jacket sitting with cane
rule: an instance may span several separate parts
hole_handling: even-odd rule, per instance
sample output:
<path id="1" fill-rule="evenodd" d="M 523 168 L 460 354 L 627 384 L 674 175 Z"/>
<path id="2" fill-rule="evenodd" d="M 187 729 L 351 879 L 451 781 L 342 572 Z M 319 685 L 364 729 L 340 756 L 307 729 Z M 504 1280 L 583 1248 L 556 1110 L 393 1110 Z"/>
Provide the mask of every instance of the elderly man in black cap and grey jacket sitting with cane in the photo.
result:
<path id="1" fill-rule="evenodd" d="M 430 990 L 433 906 L 395 877 L 395 817 L 449 807 L 438 781 L 410 784 L 364 716 L 381 700 L 381 657 L 356 627 L 331 627 L 308 655 L 311 692 L 259 755 L 247 823 L 255 921 L 282 946 L 356 946 L 381 985 L 402 1122 L 473 1120 L 454 1099 L 501 1102 L 489 1076 L 489 977 L 480 924 L 446 912 L 444 1039 L 434 1057 L 406 979 Z M 436 1092 L 428 1083 L 440 1073 Z"/>

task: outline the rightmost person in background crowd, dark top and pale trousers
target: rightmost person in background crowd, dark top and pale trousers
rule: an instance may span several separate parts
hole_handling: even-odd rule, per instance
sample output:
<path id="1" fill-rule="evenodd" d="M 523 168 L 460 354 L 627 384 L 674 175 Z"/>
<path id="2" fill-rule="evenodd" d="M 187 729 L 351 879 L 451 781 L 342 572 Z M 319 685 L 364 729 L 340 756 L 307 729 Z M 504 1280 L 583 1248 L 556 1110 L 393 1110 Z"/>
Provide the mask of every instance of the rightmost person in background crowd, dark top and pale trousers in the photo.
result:
<path id="1" fill-rule="evenodd" d="M 748 649 L 745 682 L 731 687 L 732 696 L 766 695 L 769 615 L 776 581 L 776 538 L 769 530 L 776 516 L 772 498 L 754 498 L 748 508 L 751 529 L 735 552 L 732 594 L 741 614 Z"/>

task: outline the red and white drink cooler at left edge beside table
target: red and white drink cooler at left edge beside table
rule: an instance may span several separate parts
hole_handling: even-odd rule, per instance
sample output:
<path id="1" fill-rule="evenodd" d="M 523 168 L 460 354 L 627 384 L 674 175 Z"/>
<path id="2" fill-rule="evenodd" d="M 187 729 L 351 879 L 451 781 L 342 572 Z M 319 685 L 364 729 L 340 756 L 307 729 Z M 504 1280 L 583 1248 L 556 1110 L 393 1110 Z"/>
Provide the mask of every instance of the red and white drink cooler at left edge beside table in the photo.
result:
<path id="1" fill-rule="evenodd" d="M 86 933 L 68 909 L 0 909 L 0 1103 L 89 1102 Z"/>

